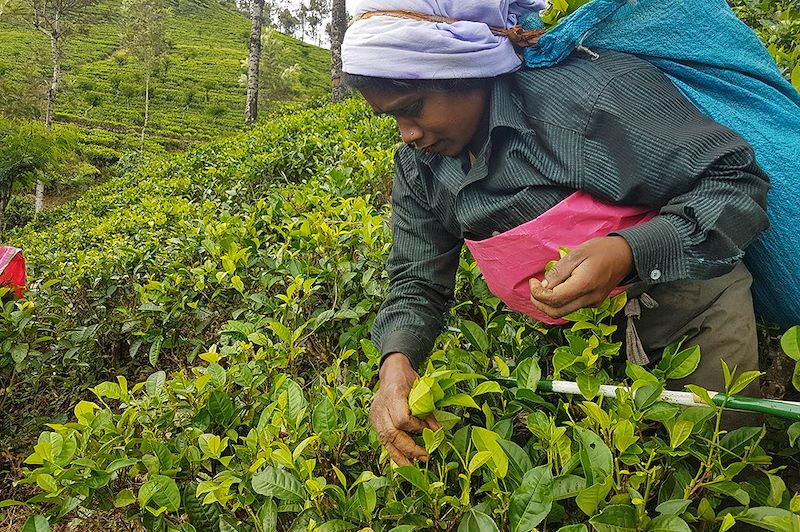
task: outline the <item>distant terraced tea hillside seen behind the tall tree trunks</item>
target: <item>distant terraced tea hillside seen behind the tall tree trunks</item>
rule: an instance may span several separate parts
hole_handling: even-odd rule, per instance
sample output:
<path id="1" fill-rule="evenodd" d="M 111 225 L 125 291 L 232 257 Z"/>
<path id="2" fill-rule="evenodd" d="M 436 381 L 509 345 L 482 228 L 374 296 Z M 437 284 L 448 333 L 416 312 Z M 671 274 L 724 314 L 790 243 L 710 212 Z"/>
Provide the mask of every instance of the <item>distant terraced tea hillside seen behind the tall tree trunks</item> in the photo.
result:
<path id="1" fill-rule="evenodd" d="M 240 77 L 246 72 L 242 61 L 247 58 L 250 22 L 230 2 L 179 0 L 170 5 L 168 49 L 152 81 L 148 129 L 151 140 L 174 148 L 242 128 L 245 90 Z M 7 19 L 0 18 L 0 86 L 6 92 L 0 99 L 8 99 L 8 91 L 14 91 L 25 93 L 18 95 L 20 100 L 30 102 L 43 96 L 42 83 L 51 70 L 49 42 L 39 32 Z M 103 147 L 117 152 L 138 147 L 135 140 L 126 142 L 120 134 L 135 135 L 141 127 L 144 78 L 141 66 L 121 42 L 119 3 L 101 2 L 92 8 L 90 21 L 67 40 L 56 121 L 96 130 L 88 132 L 83 142 L 98 146 L 94 155 L 102 159 Z M 275 48 L 270 57 L 276 63 L 268 65 L 268 75 L 280 79 L 286 69 L 295 65 L 296 69 L 267 98 L 326 96 L 330 87 L 326 50 L 277 32 L 270 42 Z M 105 155 L 113 158 L 113 151 Z"/>

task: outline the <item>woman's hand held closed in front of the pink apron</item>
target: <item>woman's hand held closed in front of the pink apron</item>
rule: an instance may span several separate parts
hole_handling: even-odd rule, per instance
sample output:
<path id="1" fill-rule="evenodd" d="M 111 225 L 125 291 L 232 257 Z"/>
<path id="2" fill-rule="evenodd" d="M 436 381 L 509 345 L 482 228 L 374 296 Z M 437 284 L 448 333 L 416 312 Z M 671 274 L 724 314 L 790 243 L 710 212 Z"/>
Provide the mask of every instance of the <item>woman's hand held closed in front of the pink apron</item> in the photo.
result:
<path id="1" fill-rule="evenodd" d="M 596 307 L 633 266 L 633 252 L 624 238 L 593 238 L 564 255 L 543 281 L 531 278 L 531 303 L 553 318 Z"/>

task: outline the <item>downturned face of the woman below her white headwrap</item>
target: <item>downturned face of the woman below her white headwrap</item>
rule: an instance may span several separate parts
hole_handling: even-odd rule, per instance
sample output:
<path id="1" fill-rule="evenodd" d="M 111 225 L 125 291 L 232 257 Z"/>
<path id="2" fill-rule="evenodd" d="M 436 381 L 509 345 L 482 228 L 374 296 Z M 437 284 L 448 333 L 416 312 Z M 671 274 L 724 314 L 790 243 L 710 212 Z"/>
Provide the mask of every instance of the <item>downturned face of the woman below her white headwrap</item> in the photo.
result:
<path id="1" fill-rule="evenodd" d="M 489 129 L 487 93 L 362 91 L 376 114 L 394 117 L 403 142 L 450 157 L 464 149 L 477 154 L 483 146 Z"/>

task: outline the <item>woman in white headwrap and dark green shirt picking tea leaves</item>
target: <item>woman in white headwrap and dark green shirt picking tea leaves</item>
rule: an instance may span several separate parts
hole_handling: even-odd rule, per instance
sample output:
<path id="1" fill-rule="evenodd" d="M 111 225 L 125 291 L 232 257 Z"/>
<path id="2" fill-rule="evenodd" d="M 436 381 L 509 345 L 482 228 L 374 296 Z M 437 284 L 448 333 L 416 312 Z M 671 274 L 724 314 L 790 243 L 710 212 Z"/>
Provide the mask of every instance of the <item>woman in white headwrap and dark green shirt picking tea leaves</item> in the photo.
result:
<path id="1" fill-rule="evenodd" d="M 643 301 L 655 303 L 639 313 L 630 359 L 688 336 L 703 353 L 694 382 L 721 388 L 720 358 L 757 368 L 752 279 L 740 260 L 767 227 L 769 184 L 752 149 L 633 56 L 577 51 L 520 69 L 510 37 L 530 37 L 514 25 L 540 7 L 362 1 L 345 36 L 345 82 L 395 118 L 405 143 L 370 412 L 399 464 L 426 459 L 409 433 L 438 427 L 411 416 L 407 397 L 444 327 L 465 241 L 512 308 L 556 320 L 633 282 L 632 295 L 646 289 Z M 572 251 L 542 278 L 553 258 L 537 251 L 545 219 L 571 229 L 558 245 Z"/>

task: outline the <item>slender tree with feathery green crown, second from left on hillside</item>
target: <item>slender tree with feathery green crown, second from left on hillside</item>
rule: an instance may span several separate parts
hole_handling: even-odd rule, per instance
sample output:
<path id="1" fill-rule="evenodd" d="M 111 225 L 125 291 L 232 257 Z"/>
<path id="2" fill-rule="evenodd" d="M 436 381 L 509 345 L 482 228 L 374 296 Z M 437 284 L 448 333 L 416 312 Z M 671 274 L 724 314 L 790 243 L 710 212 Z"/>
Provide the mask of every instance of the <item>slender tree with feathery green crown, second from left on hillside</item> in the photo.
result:
<path id="1" fill-rule="evenodd" d="M 158 61 L 167 50 L 164 22 L 168 10 L 161 0 L 123 0 L 123 46 L 144 68 L 144 121 L 140 151 L 144 153 L 144 138 L 150 118 L 150 78 Z"/>

